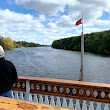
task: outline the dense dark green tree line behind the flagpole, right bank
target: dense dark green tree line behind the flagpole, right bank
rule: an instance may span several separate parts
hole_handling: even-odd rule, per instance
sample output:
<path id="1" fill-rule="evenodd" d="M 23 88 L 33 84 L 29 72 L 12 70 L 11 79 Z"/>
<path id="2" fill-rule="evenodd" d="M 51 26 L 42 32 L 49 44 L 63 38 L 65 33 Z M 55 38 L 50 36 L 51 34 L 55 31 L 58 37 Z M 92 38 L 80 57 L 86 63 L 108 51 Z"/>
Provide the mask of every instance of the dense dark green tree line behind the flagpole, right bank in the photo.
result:
<path id="1" fill-rule="evenodd" d="M 80 51 L 81 36 L 55 40 L 53 48 Z M 110 30 L 84 35 L 84 51 L 110 56 Z"/>

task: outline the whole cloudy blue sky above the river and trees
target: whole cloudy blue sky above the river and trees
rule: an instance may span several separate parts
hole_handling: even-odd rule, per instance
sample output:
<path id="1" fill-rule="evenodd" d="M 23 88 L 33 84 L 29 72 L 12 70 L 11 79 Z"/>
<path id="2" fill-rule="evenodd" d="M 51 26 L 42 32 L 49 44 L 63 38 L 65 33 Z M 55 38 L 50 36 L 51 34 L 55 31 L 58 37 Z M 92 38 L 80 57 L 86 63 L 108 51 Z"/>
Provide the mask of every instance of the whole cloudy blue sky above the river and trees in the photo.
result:
<path id="1" fill-rule="evenodd" d="M 110 29 L 110 0 L 0 0 L 0 36 L 51 45 L 54 40 Z"/>

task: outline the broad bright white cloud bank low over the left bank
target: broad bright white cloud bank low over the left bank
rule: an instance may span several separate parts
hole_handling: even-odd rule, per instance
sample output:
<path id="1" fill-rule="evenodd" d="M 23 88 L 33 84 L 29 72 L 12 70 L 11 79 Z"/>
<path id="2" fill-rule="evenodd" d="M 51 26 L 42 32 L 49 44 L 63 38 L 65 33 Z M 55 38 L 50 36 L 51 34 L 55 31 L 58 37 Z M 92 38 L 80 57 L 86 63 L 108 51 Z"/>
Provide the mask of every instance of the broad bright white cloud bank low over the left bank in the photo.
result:
<path id="1" fill-rule="evenodd" d="M 46 20 L 45 15 L 35 18 L 30 14 L 16 13 L 5 9 L 0 10 L 0 17 L 0 35 L 11 36 L 16 41 L 51 44 L 55 38 L 59 38 L 54 36 L 60 36 L 56 23 L 50 22 L 47 26 L 42 23 Z"/>

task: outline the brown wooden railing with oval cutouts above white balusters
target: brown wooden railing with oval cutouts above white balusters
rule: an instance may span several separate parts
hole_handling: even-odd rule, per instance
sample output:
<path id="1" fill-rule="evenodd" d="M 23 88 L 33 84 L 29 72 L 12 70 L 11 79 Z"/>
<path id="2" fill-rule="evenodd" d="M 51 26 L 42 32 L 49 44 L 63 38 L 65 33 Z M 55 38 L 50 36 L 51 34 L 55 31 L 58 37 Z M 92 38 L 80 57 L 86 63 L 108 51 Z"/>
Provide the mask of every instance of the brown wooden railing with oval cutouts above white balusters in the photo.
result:
<path id="1" fill-rule="evenodd" d="M 110 84 L 19 76 L 14 98 L 81 110 L 110 110 Z"/>

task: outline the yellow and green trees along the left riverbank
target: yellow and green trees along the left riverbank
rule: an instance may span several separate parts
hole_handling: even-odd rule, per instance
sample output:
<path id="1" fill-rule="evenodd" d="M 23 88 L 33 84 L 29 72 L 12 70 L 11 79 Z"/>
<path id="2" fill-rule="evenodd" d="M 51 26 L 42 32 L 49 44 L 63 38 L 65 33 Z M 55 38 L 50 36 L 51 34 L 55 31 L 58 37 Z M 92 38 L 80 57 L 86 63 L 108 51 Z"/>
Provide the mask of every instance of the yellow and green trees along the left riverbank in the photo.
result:
<path id="1" fill-rule="evenodd" d="M 2 36 L 0 36 L 0 45 L 2 45 L 5 50 L 11 50 L 13 48 L 19 48 L 19 47 L 41 46 L 40 44 L 36 44 L 33 42 L 15 41 L 15 40 L 11 39 L 10 37 L 2 37 Z"/>

